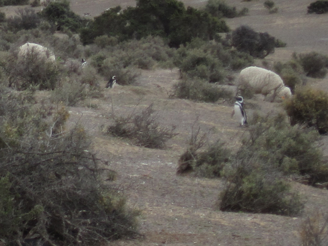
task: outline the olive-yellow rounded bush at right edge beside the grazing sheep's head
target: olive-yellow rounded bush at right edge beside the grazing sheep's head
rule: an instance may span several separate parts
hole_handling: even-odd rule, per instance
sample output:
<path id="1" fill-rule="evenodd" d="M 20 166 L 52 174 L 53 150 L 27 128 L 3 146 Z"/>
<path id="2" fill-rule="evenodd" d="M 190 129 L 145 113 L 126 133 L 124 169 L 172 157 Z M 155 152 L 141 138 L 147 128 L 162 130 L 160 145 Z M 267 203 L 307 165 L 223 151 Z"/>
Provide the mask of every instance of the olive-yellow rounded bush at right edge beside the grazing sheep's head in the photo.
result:
<path id="1" fill-rule="evenodd" d="M 285 108 L 291 124 L 305 124 L 315 128 L 320 134 L 328 132 L 328 95 L 313 88 L 300 88 L 286 101 Z"/>

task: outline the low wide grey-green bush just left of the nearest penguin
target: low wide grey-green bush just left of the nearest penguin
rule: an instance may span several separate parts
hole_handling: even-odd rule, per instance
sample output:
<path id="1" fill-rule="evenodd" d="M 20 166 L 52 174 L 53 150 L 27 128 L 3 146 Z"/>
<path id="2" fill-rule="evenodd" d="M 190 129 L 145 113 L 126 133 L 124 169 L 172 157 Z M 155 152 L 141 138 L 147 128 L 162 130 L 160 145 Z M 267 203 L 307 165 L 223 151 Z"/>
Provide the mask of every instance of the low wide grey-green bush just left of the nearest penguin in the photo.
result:
<path id="1" fill-rule="evenodd" d="M 233 97 L 233 92 L 204 80 L 184 78 L 173 86 L 173 96 L 196 101 L 212 102 Z"/>

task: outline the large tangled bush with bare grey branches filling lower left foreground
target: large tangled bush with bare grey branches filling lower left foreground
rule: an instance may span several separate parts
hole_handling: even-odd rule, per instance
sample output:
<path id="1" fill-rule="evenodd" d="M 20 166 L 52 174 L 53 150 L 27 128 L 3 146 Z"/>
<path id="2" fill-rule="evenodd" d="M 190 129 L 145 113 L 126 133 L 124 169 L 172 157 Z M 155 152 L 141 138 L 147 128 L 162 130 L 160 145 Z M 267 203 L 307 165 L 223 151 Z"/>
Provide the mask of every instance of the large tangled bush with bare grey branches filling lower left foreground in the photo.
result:
<path id="1" fill-rule="evenodd" d="M 137 234 L 136 212 L 101 181 L 111 170 L 92 153 L 84 129 L 65 130 L 65 108 L 3 88 L 0 106 L 3 243 L 95 245 Z"/>

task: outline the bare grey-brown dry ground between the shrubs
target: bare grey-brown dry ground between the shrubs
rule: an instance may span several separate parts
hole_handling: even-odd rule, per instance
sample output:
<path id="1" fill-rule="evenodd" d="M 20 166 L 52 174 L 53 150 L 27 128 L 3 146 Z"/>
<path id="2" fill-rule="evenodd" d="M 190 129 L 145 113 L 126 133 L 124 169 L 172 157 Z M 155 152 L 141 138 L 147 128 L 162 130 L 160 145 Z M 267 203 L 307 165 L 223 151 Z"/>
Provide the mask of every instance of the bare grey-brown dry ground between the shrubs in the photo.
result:
<path id="1" fill-rule="evenodd" d="M 82 15 L 99 15 L 107 8 L 133 6 L 132 0 L 71 0 L 71 8 Z M 206 1 L 185 0 L 186 6 L 201 7 Z M 293 52 L 317 51 L 328 55 L 327 14 L 306 14 L 311 0 L 276 0 L 278 13 L 269 14 L 263 0 L 226 1 L 237 9 L 249 8 L 249 15 L 227 19 L 231 29 L 249 25 L 256 31 L 269 34 L 287 43 L 265 59 L 285 61 Z M 14 11 L 11 7 L 1 11 Z M 257 61 L 260 64 L 261 61 Z M 117 86 L 106 91 L 104 98 L 88 99 L 70 107 L 69 124 L 82 124 L 93 139 L 99 158 L 108 160 L 117 172 L 117 185 L 124 188 L 128 204 L 142 211 L 142 238 L 119 240 L 111 245 L 300 245 L 299 227 L 302 219 L 315 212 L 327 211 L 328 191 L 292 183 L 303 195 L 304 214 L 284 217 L 270 214 L 228 213 L 215 208 L 223 188 L 221 179 L 177 176 L 177 160 L 186 150 L 192 127 L 200 126 L 210 139 L 221 139 L 237 148 L 245 129 L 231 118 L 232 105 L 227 102 L 196 103 L 170 98 L 172 87 L 179 79 L 178 69 L 142 71 L 135 86 Z M 328 91 L 328 78 L 310 80 L 313 86 Z M 101 86 L 105 86 L 101 82 Z M 252 111 L 279 110 L 279 104 L 249 101 Z M 89 104 L 97 108 L 87 107 Z M 101 126 L 111 122 L 111 114 L 129 114 L 153 104 L 163 126 L 176 126 L 178 135 L 163 150 L 136 147 L 129 140 L 104 135 Z M 328 139 L 321 137 L 322 148 L 328 156 Z"/>

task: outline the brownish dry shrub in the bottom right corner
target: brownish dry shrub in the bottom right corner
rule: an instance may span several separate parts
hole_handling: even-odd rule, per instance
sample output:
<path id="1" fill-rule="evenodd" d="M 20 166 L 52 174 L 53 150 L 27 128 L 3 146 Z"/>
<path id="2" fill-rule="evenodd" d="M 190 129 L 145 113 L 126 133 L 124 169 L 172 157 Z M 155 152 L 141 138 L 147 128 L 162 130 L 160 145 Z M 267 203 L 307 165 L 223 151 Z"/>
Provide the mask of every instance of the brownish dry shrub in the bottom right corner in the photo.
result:
<path id="1" fill-rule="evenodd" d="M 302 246 L 328 245 L 328 215 L 316 212 L 302 221 L 300 227 Z"/>

